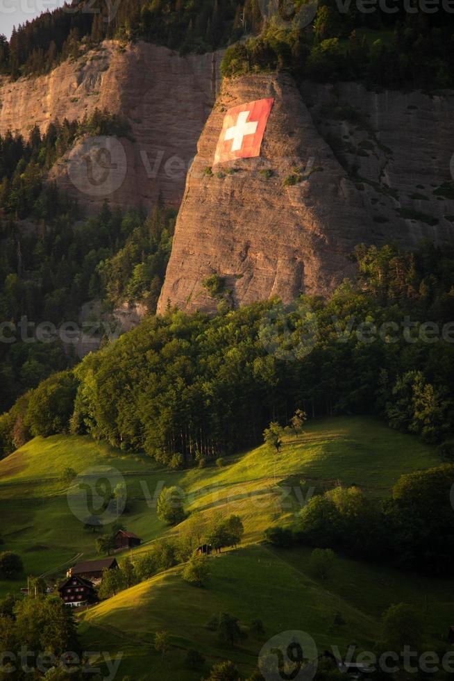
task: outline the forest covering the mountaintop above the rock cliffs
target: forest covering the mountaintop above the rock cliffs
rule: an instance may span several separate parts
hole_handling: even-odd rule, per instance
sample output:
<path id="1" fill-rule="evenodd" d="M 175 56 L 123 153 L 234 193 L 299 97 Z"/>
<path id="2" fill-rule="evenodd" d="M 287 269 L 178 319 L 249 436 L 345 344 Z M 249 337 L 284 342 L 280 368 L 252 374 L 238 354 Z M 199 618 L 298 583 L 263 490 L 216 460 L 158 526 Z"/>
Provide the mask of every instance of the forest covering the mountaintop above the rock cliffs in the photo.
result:
<path id="1" fill-rule="evenodd" d="M 0 73 L 17 78 L 46 72 L 104 38 L 140 38 L 204 52 L 256 35 L 228 52 L 224 74 L 286 68 L 322 81 L 365 79 L 430 89 L 453 84 L 454 19 L 441 2 L 430 12 L 419 3 L 409 10 L 402 0 L 361 11 L 357 2 L 321 0 L 308 26 L 298 15 L 293 23 L 269 22 L 267 3 L 259 0 L 123 0 L 114 9 L 109 4 L 74 0 L 66 10 L 19 27 L 9 44 L 0 37 Z M 302 0 L 294 6 L 308 11 Z"/>

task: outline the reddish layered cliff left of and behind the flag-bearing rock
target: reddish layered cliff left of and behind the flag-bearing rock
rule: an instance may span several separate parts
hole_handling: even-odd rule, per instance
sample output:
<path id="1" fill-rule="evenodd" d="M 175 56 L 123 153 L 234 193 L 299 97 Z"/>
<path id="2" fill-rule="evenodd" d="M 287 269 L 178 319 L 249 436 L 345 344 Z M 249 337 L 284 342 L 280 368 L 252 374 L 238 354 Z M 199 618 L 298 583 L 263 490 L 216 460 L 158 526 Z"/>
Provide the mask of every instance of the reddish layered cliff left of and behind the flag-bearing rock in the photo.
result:
<path id="1" fill-rule="evenodd" d="M 35 123 L 44 131 L 56 118 L 81 120 L 96 107 L 121 113 L 131 124 L 131 140 L 115 142 L 120 163 L 113 181 L 96 181 L 91 190 L 82 158 L 86 145 L 60 159 L 51 178 L 90 211 L 104 199 L 124 209 L 149 208 L 160 192 L 168 205 L 178 206 L 215 101 L 219 60 L 217 53 L 179 56 L 144 42 L 125 48 L 107 41 L 49 75 L 0 79 L 0 133 L 27 134 Z"/>

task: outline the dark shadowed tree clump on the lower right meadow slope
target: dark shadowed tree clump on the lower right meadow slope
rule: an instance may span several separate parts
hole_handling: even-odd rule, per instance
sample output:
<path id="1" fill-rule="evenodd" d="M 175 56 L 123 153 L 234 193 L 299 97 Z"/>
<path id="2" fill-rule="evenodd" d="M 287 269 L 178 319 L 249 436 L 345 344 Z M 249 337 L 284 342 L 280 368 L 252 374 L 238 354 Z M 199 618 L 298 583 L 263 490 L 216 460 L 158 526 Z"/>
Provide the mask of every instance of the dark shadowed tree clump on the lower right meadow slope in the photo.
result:
<path id="1" fill-rule="evenodd" d="M 451 490 L 454 466 L 403 475 L 392 498 L 378 502 L 357 487 L 314 496 L 293 528 L 270 527 L 280 548 L 294 543 L 331 548 L 356 559 L 392 561 L 411 571 L 450 575 L 454 566 Z"/>

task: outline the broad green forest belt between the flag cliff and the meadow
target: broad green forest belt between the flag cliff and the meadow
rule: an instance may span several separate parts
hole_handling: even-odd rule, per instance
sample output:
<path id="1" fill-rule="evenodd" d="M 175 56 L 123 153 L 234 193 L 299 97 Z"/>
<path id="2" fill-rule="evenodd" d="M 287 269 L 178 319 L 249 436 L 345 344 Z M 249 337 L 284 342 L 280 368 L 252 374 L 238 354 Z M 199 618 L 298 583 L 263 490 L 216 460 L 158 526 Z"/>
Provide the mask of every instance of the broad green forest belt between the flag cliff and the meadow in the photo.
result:
<path id="1" fill-rule="evenodd" d="M 87 356 L 72 379 L 62 374 L 32 391 L 17 413 L 31 434 L 89 433 L 163 463 L 246 448 L 296 408 L 310 416 L 380 413 L 444 442 L 451 455 L 454 249 L 358 247 L 356 257 L 358 284 L 346 282 L 328 301 L 231 311 L 223 300 L 214 318 L 146 318 Z M 53 427 L 56 391 L 67 394 L 57 400 L 67 404 L 58 415 L 64 428 Z M 17 413 L 1 420 L 4 454 L 14 448 Z"/>

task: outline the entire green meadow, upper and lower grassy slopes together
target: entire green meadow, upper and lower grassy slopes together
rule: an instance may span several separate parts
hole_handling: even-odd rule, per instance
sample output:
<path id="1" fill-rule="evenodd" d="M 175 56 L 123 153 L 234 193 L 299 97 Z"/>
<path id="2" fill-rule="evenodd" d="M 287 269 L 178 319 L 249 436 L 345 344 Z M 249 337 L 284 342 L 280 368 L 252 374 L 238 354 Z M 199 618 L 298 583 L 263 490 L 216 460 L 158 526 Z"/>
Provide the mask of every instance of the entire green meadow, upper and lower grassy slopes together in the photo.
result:
<path id="1" fill-rule="evenodd" d="M 403 473 L 438 463 L 435 448 L 379 420 L 359 417 L 309 422 L 303 434 L 287 434 L 277 454 L 262 445 L 224 459 L 221 468 L 175 472 L 87 437 L 35 438 L 0 461 L 2 548 L 19 552 L 24 561 L 24 574 L 0 582 L 1 593 L 19 591 L 27 575 L 46 575 L 56 582 L 76 559 L 97 556 L 96 534 L 84 527 L 84 497 L 76 515 L 73 512 L 71 499 L 80 478 L 62 481 L 68 467 L 79 476 L 94 469 L 112 475 L 114 485 L 118 480 L 126 483 L 128 505 L 119 520 L 143 540 L 133 559 L 149 550 L 157 537 L 184 532 L 190 522 L 169 528 L 158 519 L 155 500 L 163 485 L 183 489 L 186 510 L 199 511 L 201 523 L 213 514 L 236 513 L 245 527 L 240 548 L 210 557 L 206 588 L 185 584 L 178 566 L 78 615 L 83 645 L 121 650 L 124 675 L 199 679 L 200 671 L 192 673 L 183 664 L 189 648 L 203 651 L 205 672 L 228 658 L 251 673 L 264 641 L 285 630 L 308 632 L 323 649 L 334 645 L 346 650 L 353 641 L 371 649 L 382 612 L 401 601 L 424 612 L 427 641 L 439 648 L 454 605 L 446 596 L 446 582 L 343 557 L 321 582 L 310 573 L 310 550 L 277 551 L 262 543 L 269 525 L 291 520 L 314 493 L 338 483 L 355 484 L 371 497 L 385 498 Z M 238 617 L 246 631 L 252 619 L 261 619 L 264 636 L 251 634 L 241 646 L 224 648 L 206 627 L 221 612 Z M 335 625 L 337 615 L 344 624 Z M 170 634 L 169 660 L 153 649 L 157 630 Z"/>

